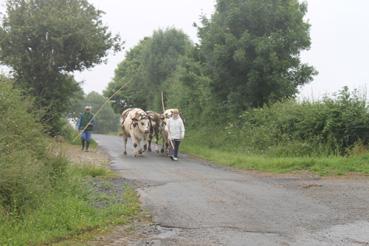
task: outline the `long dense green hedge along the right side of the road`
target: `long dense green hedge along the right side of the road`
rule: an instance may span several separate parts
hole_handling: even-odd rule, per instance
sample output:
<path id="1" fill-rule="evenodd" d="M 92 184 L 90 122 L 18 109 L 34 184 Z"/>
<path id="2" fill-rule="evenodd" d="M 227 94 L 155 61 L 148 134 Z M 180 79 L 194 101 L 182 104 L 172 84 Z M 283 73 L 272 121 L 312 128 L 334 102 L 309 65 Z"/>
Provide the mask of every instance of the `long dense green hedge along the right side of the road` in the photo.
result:
<path id="1" fill-rule="evenodd" d="M 369 111 L 344 88 L 319 102 L 278 102 L 242 113 L 224 126 L 197 128 L 195 142 L 225 151 L 270 156 L 346 155 L 369 142 Z M 193 141 L 192 139 L 191 141 Z"/>

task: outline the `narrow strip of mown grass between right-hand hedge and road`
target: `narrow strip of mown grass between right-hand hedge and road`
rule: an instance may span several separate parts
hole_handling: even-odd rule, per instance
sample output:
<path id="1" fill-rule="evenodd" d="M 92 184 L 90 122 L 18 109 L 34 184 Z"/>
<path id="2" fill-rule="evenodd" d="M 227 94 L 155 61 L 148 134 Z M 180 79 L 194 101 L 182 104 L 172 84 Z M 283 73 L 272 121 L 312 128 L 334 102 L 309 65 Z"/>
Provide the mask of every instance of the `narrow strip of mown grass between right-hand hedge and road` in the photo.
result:
<path id="1" fill-rule="evenodd" d="M 215 164 L 238 169 L 257 170 L 274 173 L 310 171 L 322 176 L 344 175 L 348 173 L 369 174 L 369 153 L 342 157 L 269 157 L 253 153 L 221 150 L 199 144 L 191 137 L 181 146 L 183 152 L 194 155 Z"/>

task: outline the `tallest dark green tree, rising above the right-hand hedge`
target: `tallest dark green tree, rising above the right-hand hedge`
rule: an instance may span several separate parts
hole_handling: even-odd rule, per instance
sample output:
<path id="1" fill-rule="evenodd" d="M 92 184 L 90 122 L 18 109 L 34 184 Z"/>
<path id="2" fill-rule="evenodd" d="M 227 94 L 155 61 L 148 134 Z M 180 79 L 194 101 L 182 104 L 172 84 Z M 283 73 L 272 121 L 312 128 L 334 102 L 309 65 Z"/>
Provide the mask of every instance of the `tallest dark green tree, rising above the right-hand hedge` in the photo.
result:
<path id="1" fill-rule="evenodd" d="M 299 58 L 310 47 L 306 10 L 298 0 L 217 0 L 199 37 L 220 110 L 234 115 L 293 97 L 312 80 L 314 68 Z"/>

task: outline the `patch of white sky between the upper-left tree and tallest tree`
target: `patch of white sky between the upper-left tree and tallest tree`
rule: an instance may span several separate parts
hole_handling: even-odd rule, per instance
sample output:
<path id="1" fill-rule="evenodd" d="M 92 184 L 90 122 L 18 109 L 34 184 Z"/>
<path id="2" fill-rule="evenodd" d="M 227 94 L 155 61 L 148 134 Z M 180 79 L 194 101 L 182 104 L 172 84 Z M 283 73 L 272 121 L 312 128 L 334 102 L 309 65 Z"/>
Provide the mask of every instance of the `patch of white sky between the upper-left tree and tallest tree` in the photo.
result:
<path id="1" fill-rule="evenodd" d="M 85 93 L 102 92 L 114 77 L 114 70 L 124 59 L 125 53 L 136 46 L 145 36 L 151 36 L 159 28 L 175 27 L 197 41 L 197 29 L 193 23 L 200 22 L 200 15 L 210 16 L 215 0 L 89 0 L 105 12 L 103 21 L 112 33 L 119 33 L 125 41 L 125 49 L 109 56 L 107 64 L 98 65 L 90 71 L 75 73 L 77 81 L 83 80 Z"/>

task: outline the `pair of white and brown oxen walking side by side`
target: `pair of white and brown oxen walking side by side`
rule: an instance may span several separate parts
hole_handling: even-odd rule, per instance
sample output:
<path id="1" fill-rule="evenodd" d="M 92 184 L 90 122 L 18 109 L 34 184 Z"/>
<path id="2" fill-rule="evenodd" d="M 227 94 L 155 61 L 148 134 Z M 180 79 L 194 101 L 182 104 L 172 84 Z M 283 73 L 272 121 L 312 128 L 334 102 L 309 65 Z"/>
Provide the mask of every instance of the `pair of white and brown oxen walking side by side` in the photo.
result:
<path id="1" fill-rule="evenodd" d="M 173 109 L 167 109 L 163 114 L 154 111 L 144 111 L 140 108 L 128 108 L 120 117 L 122 127 L 124 154 L 127 155 L 127 140 L 131 138 L 134 156 L 142 155 L 143 152 L 151 151 L 151 142 L 159 144 L 161 137 L 161 153 L 168 152 L 170 140 L 166 128 L 168 119 L 172 116 Z"/>

